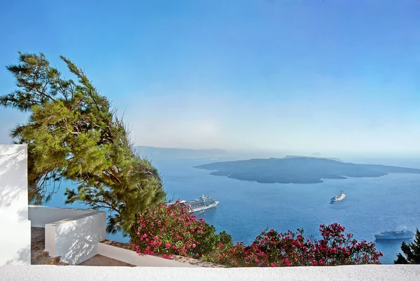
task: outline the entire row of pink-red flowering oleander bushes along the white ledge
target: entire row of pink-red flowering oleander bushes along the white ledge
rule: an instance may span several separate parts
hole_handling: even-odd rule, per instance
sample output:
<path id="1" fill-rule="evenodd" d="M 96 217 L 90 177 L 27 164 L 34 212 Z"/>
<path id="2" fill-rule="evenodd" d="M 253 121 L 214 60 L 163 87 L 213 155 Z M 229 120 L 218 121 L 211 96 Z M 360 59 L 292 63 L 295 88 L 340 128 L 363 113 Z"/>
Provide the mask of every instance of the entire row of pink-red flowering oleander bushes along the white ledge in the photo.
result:
<path id="1" fill-rule="evenodd" d="M 262 231 L 251 245 L 233 245 L 228 233 L 216 234 L 214 226 L 197 220 L 177 201 L 160 205 L 132 224 L 132 245 L 138 254 L 190 256 L 231 267 L 338 266 L 379 263 L 381 252 L 374 242 L 358 242 L 339 224 L 319 226 L 321 239 L 304 238 L 304 231 Z"/>

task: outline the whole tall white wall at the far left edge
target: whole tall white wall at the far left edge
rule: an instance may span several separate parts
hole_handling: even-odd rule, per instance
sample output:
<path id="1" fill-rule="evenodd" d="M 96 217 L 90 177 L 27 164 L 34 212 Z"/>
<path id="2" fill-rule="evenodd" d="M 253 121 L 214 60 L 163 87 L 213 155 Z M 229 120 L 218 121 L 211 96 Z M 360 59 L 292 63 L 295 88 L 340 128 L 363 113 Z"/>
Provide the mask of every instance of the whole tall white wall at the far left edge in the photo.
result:
<path id="1" fill-rule="evenodd" d="M 0 266 L 31 263 L 27 146 L 0 144 Z"/>

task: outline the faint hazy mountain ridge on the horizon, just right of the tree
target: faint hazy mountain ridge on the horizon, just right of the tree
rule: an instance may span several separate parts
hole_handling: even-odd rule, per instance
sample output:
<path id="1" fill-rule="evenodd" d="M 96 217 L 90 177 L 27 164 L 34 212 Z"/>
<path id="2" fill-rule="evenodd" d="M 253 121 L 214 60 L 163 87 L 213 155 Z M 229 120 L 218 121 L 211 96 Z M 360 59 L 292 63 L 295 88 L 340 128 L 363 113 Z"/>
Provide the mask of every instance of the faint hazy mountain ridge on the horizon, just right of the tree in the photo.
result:
<path id="1" fill-rule="evenodd" d="M 135 146 L 137 153 L 151 159 L 213 158 L 228 156 L 223 149 L 172 149 L 154 146 Z"/>

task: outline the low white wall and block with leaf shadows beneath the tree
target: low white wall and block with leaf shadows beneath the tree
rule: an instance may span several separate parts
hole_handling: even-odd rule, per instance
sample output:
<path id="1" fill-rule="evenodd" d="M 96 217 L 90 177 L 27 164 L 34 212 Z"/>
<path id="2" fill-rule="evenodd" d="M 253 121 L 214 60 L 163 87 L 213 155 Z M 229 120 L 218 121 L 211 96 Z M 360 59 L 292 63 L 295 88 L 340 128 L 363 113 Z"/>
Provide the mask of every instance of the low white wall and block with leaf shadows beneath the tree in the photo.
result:
<path id="1" fill-rule="evenodd" d="M 45 227 L 45 251 L 76 265 L 98 253 L 106 239 L 106 213 L 95 210 L 29 206 L 32 226 Z"/>

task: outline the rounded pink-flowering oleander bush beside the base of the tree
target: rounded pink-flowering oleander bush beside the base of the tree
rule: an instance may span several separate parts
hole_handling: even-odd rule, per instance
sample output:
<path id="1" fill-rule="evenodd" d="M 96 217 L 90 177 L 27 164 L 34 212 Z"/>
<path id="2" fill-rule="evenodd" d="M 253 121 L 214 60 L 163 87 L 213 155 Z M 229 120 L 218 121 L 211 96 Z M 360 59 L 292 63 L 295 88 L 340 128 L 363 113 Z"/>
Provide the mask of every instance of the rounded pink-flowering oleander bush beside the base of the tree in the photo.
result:
<path id="1" fill-rule="evenodd" d="M 131 243 L 138 254 L 173 254 L 200 258 L 214 251 L 218 242 L 232 246 L 232 237 L 224 231 L 216 234 L 216 228 L 203 219 L 190 214 L 188 207 L 176 201 L 166 207 L 160 205 L 137 215 L 130 233 Z"/>

